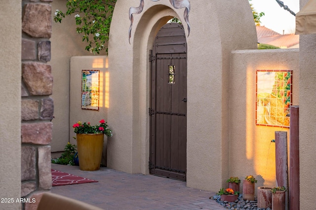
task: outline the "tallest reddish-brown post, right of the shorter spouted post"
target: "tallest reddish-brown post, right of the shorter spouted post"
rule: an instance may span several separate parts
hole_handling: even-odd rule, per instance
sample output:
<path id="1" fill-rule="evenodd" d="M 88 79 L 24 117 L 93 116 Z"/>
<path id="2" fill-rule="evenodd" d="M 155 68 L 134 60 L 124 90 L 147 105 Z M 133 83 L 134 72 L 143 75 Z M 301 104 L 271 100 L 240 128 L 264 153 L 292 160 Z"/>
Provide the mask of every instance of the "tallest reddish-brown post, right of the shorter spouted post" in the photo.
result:
<path id="1" fill-rule="evenodd" d="M 290 210 L 300 209 L 299 106 L 290 106 Z"/>

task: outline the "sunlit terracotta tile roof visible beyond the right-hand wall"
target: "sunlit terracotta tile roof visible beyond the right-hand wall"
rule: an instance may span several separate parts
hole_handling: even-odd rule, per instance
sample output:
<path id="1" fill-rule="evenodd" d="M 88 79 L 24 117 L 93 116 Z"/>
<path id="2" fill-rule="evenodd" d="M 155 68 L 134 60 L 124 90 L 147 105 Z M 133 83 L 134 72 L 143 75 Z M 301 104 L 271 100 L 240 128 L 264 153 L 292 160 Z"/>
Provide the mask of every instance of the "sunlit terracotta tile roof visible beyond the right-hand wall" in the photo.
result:
<path id="1" fill-rule="evenodd" d="M 280 48 L 290 48 L 299 44 L 299 35 L 280 35 L 264 26 L 256 26 L 258 42 L 270 44 Z"/>

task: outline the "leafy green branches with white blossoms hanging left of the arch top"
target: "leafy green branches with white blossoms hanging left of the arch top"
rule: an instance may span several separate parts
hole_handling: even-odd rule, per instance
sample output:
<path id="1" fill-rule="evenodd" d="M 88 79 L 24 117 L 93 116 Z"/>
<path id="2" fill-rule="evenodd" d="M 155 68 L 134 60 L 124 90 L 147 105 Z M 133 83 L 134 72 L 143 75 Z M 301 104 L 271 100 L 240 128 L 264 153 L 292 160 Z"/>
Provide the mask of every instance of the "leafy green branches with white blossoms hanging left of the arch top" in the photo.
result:
<path id="1" fill-rule="evenodd" d="M 68 15 L 74 15 L 76 31 L 87 42 L 86 50 L 99 54 L 101 50 L 108 52 L 110 25 L 114 6 L 117 0 L 67 0 L 66 13 L 56 9 L 54 21 L 61 23 Z"/>

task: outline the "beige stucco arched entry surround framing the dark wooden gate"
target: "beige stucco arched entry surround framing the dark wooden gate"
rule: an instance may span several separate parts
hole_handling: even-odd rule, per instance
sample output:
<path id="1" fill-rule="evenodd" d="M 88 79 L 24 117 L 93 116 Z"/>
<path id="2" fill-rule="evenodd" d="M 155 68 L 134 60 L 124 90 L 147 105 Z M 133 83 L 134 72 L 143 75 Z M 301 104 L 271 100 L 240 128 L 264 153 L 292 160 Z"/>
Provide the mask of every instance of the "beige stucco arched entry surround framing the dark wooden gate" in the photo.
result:
<path id="1" fill-rule="evenodd" d="M 144 3 L 143 12 L 133 16 L 131 44 L 130 21 L 122 17 L 130 7 L 139 6 L 139 0 L 118 0 L 112 20 L 108 120 L 116 135 L 108 143 L 108 166 L 148 174 L 149 49 L 159 28 L 173 16 L 184 23 L 186 35 L 188 30 L 184 8 L 174 9 L 169 0 Z M 255 49 L 256 30 L 247 0 L 225 5 L 222 0 L 190 3 L 187 184 L 217 191 L 229 175 L 230 52 Z"/>

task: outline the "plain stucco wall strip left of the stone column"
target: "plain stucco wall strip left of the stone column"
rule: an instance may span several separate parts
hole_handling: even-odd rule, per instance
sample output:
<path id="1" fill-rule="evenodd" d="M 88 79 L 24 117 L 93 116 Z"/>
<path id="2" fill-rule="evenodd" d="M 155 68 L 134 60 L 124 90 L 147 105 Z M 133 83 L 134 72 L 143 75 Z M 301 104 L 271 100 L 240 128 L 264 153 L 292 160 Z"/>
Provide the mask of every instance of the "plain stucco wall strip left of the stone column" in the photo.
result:
<path id="1" fill-rule="evenodd" d="M 1 1 L 0 198 L 21 197 L 21 8 L 21 0 Z M 0 209 L 20 204 L 0 203 Z"/>

